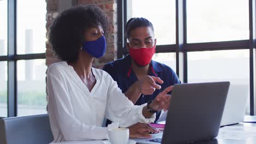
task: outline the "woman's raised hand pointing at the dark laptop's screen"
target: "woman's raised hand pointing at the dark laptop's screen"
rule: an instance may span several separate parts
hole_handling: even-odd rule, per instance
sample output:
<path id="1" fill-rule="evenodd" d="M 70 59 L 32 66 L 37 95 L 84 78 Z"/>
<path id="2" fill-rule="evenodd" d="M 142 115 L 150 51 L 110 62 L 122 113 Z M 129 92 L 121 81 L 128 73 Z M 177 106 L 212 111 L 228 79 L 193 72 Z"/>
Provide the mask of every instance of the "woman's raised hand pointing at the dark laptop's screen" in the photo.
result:
<path id="1" fill-rule="evenodd" d="M 156 98 L 152 101 L 152 103 L 149 105 L 150 109 L 155 111 L 168 110 L 171 95 L 167 93 L 172 91 L 172 88 L 173 86 L 169 86 L 165 88 L 164 91 L 159 93 L 156 96 Z"/>

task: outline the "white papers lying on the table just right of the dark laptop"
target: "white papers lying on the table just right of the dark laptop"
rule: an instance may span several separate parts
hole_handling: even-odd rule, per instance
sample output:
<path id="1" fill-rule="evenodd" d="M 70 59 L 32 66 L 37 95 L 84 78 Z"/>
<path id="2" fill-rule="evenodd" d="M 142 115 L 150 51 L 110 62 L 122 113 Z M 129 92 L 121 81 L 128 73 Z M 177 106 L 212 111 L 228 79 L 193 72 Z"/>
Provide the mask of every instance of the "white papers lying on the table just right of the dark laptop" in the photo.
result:
<path id="1" fill-rule="evenodd" d="M 256 137 L 256 127 L 228 126 L 219 130 L 218 139 L 245 140 Z"/>

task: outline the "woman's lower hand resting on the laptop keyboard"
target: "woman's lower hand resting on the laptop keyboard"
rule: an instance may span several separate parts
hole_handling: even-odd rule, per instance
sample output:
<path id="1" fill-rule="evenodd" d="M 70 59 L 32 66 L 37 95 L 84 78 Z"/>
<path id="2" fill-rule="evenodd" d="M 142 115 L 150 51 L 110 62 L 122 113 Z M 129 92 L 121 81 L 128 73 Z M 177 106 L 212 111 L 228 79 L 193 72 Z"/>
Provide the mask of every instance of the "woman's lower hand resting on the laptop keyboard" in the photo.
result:
<path id="1" fill-rule="evenodd" d="M 152 137 L 148 133 L 159 133 L 159 130 L 151 127 L 149 124 L 136 123 L 131 125 L 129 128 L 130 138 L 150 138 Z"/>

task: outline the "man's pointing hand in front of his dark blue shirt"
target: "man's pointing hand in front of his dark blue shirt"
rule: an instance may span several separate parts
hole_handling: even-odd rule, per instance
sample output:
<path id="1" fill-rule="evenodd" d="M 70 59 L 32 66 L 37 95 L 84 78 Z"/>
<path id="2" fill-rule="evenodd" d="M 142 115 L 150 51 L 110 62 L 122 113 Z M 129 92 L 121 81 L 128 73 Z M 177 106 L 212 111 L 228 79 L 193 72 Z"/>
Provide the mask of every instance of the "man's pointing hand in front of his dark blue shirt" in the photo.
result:
<path id="1" fill-rule="evenodd" d="M 159 77 L 146 75 L 142 79 L 137 81 L 139 92 L 144 95 L 152 95 L 155 92 L 155 89 L 161 89 L 161 86 L 156 84 L 164 83 Z"/>

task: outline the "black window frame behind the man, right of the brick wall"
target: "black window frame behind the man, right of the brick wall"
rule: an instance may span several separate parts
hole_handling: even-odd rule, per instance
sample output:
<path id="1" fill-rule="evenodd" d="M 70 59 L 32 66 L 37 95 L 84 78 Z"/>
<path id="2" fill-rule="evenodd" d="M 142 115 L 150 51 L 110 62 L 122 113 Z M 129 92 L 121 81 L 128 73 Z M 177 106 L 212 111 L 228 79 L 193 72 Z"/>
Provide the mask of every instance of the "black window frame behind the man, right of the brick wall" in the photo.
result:
<path id="1" fill-rule="evenodd" d="M 254 115 L 254 71 L 253 49 L 256 47 L 256 0 L 249 3 L 249 39 L 218 41 L 210 43 L 187 43 L 187 0 L 176 0 L 176 44 L 158 45 L 156 53 L 176 53 L 176 73 L 182 77 L 183 82 L 188 82 L 188 57 L 192 51 L 217 51 L 217 50 L 249 50 L 249 88 L 250 88 L 250 115 Z M 128 53 L 125 43 L 125 24 L 127 21 L 127 0 L 117 1 L 118 5 L 118 58 L 123 58 Z M 183 55 L 180 55 L 180 54 Z"/>

